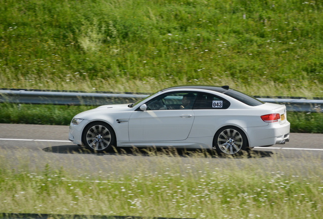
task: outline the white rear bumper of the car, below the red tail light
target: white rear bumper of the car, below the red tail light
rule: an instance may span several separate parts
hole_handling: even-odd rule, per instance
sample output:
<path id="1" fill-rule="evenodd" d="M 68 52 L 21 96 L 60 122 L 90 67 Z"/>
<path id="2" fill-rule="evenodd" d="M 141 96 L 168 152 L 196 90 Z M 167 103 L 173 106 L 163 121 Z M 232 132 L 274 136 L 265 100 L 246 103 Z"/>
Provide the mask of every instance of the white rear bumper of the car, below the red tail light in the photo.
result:
<path id="1" fill-rule="evenodd" d="M 249 147 L 266 147 L 289 141 L 290 123 L 270 123 L 268 126 L 247 128 Z"/>

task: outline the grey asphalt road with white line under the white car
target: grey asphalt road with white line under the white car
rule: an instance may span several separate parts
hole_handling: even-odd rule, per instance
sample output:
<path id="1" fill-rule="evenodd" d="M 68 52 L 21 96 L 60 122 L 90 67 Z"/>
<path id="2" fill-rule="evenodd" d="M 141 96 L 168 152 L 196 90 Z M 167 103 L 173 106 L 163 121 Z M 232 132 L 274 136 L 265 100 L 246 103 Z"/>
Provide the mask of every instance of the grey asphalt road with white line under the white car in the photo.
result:
<path id="1" fill-rule="evenodd" d="M 71 174 L 115 174 L 140 167 L 155 172 L 158 165 L 201 171 L 203 168 L 248 168 L 259 165 L 265 171 L 311 174 L 323 167 L 323 134 L 291 133 L 286 144 L 254 148 L 244 158 L 205 156 L 201 150 L 155 152 L 121 149 L 112 153 L 88 153 L 68 140 L 68 126 L 0 124 L 0 159 L 7 168 L 33 171 L 46 164 L 62 167 Z M 161 154 L 161 155 L 160 155 Z M 120 156 L 121 155 L 121 156 Z M 5 163 L 5 164 L 4 164 Z M 310 171 L 309 171 L 310 170 Z"/>

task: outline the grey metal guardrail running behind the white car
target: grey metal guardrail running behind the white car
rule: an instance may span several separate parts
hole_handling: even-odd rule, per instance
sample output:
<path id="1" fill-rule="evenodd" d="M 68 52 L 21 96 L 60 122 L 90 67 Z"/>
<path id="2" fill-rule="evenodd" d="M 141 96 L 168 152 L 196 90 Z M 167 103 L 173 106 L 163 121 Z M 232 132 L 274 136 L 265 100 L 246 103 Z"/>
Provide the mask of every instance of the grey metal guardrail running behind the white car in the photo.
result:
<path id="1" fill-rule="evenodd" d="M 29 90 L 0 90 L 0 103 L 54 104 L 54 105 L 106 105 L 137 102 L 147 94 L 79 93 Z M 322 99 L 257 98 L 264 102 L 285 104 L 287 111 L 323 112 Z"/>

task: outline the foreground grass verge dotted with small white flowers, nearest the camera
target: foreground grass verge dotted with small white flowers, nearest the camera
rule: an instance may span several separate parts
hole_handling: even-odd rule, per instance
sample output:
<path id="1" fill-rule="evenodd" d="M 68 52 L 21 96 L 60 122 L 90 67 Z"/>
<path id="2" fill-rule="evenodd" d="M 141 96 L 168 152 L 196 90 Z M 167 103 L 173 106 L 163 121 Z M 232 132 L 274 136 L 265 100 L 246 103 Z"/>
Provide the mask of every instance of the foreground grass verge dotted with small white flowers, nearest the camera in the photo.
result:
<path id="1" fill-rule="evenodd" d="M 100 171 L 75 175 L 49 165 L 30 172 L 28 163 L 13 170 L 1 162 L 0 211 L 147 218 L 323 216 L 323 168 L 318 160 L 310 161 L 311 165 L 300 160 L 302 168 L 290 168 L 275 162 L 273 155 L 264 163 L 250 165 L 253 159 L 240 158 L 222 160 L 227 164 L 213 167 L 210 155 L 203 159 L 192 156 L 188 163 L 161 152 L 150 156 L 153 160 L 141 159 L 134 171 L 123 169 L 119 163 L 118 174 Z M 147 165 L 153 166 L 153 171 Z"/>

